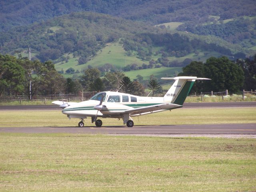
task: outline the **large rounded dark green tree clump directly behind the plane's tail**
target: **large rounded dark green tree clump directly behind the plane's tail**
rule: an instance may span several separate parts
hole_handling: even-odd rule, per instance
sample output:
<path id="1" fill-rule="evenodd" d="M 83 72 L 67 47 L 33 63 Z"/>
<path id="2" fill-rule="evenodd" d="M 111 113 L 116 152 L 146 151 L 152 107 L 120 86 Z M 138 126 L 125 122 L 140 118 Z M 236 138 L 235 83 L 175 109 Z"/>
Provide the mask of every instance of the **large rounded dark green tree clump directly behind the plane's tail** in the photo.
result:
<path id="1" fill-rule="evenodd" d="M 178 74 L 179 76 L 197 76 L 212 79 L 196 82 L 194 90 L 197 92 L 221 92 L 228 89 L 230 93 L 236 93 L 242 91 L 244 85 L 245 77 L 242 67 L 226 57 L 211 57 L 205 64 L 191 62 L 182 70 L 183 72 Z"/>

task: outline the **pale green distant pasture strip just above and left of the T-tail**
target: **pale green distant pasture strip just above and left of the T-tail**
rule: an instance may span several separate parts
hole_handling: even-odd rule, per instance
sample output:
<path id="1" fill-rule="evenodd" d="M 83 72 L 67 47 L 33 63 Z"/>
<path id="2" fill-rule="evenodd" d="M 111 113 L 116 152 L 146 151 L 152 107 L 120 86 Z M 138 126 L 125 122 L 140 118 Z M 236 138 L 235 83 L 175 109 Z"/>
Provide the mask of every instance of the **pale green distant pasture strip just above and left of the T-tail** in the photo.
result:
<path id="1" fill-rule="evenodd" d="M 175 72 L 181 72 L 181 67 L 161 67 L 152 69 L 142 69 L 135 71 L 124 72 L 131 80 L 136 79 L 136 76 L 140 74 L 143 80 L 150 79 L 150 75 L 154 75 L 156 78 L 166 77 L 175 74 Z"/>

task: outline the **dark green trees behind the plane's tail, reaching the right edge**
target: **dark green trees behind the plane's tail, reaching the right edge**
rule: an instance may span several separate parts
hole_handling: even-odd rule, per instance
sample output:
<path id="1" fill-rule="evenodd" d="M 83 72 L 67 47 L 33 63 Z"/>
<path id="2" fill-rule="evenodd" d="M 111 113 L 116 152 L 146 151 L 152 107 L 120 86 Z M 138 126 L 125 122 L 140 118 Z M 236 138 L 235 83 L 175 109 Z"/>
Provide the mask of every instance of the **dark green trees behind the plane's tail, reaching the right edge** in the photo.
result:
<path id="1" fill-rule="evenodd" d="M 226 57 L 206 60 L 206 63 L 193 61 L 182 68 L 179 76 L 197 76 L 210 78 L 209 81 L 198 81 L 193 86 L 194 92 L 219 92 L 226 89 L 230 93 L 244 90 L 256 90 L 256 55 L 254 59 L 239 59 L 232 62 Z"/>

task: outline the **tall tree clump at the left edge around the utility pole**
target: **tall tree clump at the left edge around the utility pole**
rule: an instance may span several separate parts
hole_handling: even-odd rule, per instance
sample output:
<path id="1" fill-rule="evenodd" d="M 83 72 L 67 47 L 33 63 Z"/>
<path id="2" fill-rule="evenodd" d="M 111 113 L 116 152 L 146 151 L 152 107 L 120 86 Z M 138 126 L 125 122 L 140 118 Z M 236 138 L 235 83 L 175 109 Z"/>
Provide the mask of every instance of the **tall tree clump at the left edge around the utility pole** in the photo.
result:
<path id="1" fill-rule="evenodd" d="M 0 96 L 50 95 L 64 90 L 66 79 L 50 61 L 41 63 L 27 58 L 0 55 Z"/>

